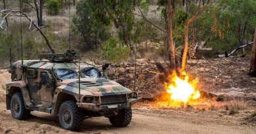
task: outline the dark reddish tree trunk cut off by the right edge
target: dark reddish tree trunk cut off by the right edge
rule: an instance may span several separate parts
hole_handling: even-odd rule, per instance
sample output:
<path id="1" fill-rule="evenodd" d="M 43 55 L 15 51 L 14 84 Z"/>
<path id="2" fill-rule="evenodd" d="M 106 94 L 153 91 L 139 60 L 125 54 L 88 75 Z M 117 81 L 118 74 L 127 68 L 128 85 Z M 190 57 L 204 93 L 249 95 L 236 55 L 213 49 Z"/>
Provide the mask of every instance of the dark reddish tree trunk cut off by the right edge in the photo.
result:
<path id="1" fill-rule="evenodd" d="M 251 52 L 251 63 L 250 63 L 249 74 L 256 76 L 256 29 L 254 32 L 253 50 Z"/>

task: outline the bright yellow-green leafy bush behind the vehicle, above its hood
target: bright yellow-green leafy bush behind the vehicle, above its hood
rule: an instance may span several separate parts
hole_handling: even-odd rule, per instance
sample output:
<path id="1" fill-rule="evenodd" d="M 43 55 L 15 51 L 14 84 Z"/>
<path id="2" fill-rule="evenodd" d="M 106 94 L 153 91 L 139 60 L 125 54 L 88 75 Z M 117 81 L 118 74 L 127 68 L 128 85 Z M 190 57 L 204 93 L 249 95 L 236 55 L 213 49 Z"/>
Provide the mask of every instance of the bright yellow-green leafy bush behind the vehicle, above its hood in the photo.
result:
<path id="1" fill-rule="evenodd" d="M 120 61 L 127 61 L 131 49 L 127 46 L 117 44 L 116 39 L 111 37 L 108 41 L 103 44 L 103 53 L 108 61 L 117 63 Z"/>

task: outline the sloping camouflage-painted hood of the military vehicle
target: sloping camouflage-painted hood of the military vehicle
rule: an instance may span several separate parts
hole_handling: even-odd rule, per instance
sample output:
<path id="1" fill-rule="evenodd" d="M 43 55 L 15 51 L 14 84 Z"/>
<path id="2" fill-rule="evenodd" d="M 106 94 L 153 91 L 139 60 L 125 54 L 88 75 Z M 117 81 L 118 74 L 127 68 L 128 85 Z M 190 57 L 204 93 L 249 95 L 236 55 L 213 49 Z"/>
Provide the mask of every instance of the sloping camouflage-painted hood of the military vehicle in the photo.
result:
<path id="1" fill-rule="evenodd" d="M 79 80 L 68 79 L 58 82 L 57 90 L 62 90 L 62 92 L 69 94 L 78 94 Z M 81 78 L 80 80 L 81 95 L 114 95 L 123 93 L 131 93 L 131 90 L 113 80 L 105 78 Z"/>

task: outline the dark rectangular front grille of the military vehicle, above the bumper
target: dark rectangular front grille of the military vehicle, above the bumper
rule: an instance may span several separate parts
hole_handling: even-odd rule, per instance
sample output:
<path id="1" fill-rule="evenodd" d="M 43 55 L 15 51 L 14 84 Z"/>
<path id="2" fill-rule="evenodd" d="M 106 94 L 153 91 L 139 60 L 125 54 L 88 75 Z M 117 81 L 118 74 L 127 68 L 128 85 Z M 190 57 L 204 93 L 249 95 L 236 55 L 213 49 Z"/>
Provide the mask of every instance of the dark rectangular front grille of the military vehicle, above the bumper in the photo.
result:
<path id="1" fill-rule="evenodd" d="M 102 105 L 110 105 L 117 103 L 125 103 L 127 101 L 126 95 L 106 95 L 100 97 L 100 101 Z"/>

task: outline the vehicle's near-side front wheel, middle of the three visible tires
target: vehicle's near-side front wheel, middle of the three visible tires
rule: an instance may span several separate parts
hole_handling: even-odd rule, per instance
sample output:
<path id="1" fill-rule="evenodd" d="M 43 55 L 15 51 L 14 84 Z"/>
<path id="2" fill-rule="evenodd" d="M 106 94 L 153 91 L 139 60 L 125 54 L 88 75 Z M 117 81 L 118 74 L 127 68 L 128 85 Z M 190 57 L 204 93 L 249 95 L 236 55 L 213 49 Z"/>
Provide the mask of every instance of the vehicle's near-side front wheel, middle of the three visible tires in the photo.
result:
<path id="1" fill-rule="evenodd" d="M 83 112 L 75 101 L 64 101 L 58 112 L 60 126 L 70 131 L 77 131 L 83 126 Z"/>

